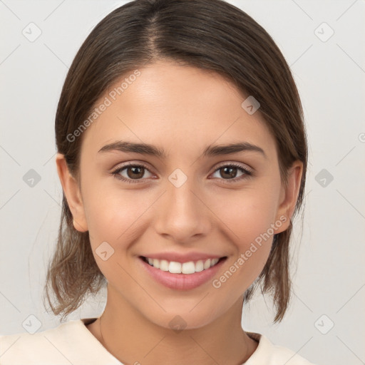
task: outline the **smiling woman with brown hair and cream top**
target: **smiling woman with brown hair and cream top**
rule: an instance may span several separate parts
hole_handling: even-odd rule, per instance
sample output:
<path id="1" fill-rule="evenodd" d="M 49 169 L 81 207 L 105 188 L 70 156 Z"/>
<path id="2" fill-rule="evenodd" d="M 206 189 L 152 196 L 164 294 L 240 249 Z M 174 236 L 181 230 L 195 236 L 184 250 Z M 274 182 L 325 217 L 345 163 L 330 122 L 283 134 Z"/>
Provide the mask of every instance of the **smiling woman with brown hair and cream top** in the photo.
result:
<path id="1" fill-rule="evenodd" d="M 307 170 L 297 88 L 250 16 L 220 0 L 120 6 L 73 60 L 56 145 L 46 297 L 64 318 L 107 284 L 106 308 L 2 336 L 0 364 L 310 364 L 241 326 L 259 284 L 284 317 Z"/>

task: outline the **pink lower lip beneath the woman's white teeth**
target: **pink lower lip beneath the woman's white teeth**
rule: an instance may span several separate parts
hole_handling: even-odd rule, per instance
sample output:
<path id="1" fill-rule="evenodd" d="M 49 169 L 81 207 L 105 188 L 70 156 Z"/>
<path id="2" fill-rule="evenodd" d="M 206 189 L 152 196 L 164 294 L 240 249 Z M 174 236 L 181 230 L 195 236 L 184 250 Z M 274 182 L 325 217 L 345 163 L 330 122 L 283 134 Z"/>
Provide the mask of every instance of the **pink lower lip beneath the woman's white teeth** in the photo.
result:
<path id="1" fill-rule="evenodd" d="M 172 274 L 168 271 L 156 269 L 145 262 L 141 257 L 138 257 L 138 259 L 143 264 L 143 268 L 146 272 L 148 272 L 148 274 L 150 274 L 150 276 L 157 282 L 165 285 L 165 287 L 176 290 L 190 290 L 200 287 L 200 285 L 205 284 L 212 279 L 227 258 L 225 257 L 220 260 L 220 262 L 217 262 L 217 264 L 209 269 L 201 272 L 195 272 L 194 274 Z"/>

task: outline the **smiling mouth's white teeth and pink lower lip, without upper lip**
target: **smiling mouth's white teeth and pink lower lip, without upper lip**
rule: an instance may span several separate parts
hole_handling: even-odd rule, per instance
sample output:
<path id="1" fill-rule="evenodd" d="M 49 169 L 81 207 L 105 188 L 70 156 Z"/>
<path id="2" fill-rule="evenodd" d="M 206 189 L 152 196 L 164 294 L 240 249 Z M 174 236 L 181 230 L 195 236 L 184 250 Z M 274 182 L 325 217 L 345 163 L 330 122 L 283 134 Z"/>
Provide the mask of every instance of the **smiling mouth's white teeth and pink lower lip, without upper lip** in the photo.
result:
<path id="1" fill-rule="evenodd" d="M 227 256 L 190 262 L 138 257 L 148 277 L 170 289 L 190 290 L 209 282 L 220 270 Z"/>

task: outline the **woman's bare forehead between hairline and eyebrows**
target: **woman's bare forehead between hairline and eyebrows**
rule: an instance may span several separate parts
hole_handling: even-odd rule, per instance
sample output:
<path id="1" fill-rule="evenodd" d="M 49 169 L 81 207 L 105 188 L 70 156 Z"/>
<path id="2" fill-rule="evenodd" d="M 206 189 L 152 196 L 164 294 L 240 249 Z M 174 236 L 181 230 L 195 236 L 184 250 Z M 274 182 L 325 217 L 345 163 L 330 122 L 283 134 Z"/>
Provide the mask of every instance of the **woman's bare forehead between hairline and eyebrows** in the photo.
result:
<path id="1" fill-rule="evenodd" d="M 219 74 L 163 61 L 133 74 L 138 76 L 123 76 L 96 103 L 96 108 L 106 107 L 83 136 L 88 153 L 117 140 L 185 155 L 214 142 L 235 141 L 274 152 L 262 115 L 248 114 L 242 108 L 247 96 Z"/>

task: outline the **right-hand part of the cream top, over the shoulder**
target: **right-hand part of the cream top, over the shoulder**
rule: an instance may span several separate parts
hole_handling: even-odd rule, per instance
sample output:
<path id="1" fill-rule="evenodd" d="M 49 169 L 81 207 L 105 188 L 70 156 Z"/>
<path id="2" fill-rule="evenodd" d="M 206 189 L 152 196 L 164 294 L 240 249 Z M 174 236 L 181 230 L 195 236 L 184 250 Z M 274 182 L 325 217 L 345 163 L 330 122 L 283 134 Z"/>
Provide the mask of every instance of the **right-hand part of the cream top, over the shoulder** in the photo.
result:
<path id="1" fill-rule="evenodd" d="M 273 344 L 272 341 L 263 334 L 256 334 L 253 332 L 247 332 L 247 334 L 259 341 L 259 345 L 250 359 L 245 362 L 245 365 L 314 365 L 291 349 Z"/>

